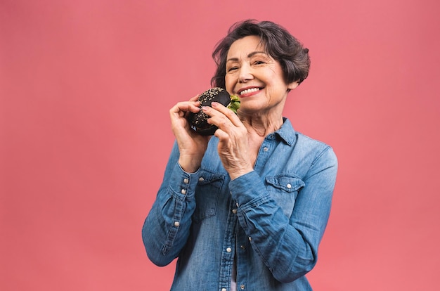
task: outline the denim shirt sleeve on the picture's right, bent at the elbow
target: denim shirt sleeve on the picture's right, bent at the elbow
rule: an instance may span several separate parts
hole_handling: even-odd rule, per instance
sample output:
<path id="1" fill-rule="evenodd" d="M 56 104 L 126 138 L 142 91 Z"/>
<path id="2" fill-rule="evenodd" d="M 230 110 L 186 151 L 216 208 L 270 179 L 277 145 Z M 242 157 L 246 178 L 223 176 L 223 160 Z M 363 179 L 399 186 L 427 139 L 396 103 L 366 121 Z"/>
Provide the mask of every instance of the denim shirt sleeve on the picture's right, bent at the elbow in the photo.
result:
<path id="1" fill-rule="evenodd" d="M 238 203 L 238 220 L 252 248 L 280 282 L 304 276 L 316 264 L 330 214 L 337 160 L 331 148 L 323 150 L 303 177 L 290 217 L 267 193 L 263 179 L 250 172 L 229 183 Z"/>

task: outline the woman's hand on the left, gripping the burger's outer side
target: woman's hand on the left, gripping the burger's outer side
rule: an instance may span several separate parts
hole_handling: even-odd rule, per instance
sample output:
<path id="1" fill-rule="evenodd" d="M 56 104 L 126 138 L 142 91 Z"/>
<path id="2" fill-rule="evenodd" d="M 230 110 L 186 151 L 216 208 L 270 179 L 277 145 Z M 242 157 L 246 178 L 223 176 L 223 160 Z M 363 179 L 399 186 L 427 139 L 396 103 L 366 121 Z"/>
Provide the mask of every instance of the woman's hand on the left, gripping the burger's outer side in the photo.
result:
<path id="1" fill-rule="evenodd" d="M 179 164 L 185 172 L 193 173 L 198 170 L 205 155 L 209 136 L 201 136 L 190 128 L 186 119 L 188 112 L 199 112 L 198 95 L 189 101 L 179 102 L 169 110 L 171 127 L 179 145 Z"/>

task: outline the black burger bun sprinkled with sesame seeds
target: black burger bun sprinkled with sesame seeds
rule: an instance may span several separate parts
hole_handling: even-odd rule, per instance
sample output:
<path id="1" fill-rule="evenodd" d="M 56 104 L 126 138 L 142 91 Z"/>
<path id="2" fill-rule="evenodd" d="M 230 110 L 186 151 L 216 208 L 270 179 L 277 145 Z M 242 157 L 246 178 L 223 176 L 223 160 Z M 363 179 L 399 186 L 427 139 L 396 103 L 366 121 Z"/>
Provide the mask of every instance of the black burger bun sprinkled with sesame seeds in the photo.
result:
<path id="1" fill-rule="evenodd" d="M 214 101 L 227 106 L 231 102 L 231 96 L 225 89 L 215 87 L 200 94 L 198 101 L 200 101 L 200 112 L 189 112 L 186 118 L 195 132 L 202 136 L 212 136 L 218 127 L 208 123 L 209 115 L 202 112 L 202 106 L 210 107 Z"/>

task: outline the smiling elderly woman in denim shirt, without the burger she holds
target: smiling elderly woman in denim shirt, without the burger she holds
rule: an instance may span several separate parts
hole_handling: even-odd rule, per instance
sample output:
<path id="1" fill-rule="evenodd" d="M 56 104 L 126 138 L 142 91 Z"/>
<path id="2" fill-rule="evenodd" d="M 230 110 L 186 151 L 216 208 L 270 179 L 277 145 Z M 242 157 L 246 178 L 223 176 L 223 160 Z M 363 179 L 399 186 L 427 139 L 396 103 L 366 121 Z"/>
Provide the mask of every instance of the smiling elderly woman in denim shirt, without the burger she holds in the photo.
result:
<path id="1" fill-rule="evenodd" d="M 201 136 L 170 110 L 176 143 L 143 225 L 154 264 L 175 258 L 172 290 L 311 290 L 330 214 L 337 159 L 330 146 L 283 117 L 290 91 L 309 73 L 309 50 L 273 22 L 247 20 L 214 50 L 212 85 L 240 97 L 234 112 L 202 107 L 219 129 Z"/>

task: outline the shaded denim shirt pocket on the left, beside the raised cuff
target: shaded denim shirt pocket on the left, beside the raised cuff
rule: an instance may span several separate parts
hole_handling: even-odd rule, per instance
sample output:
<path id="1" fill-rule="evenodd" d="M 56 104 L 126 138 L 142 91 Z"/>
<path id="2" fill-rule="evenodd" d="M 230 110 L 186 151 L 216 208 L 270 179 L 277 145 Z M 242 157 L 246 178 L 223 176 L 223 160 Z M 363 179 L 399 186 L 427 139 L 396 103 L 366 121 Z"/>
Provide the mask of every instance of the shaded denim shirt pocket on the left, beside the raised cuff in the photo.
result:
<path id="1" fill-rule="evenodd" d="M 221 186 L 225 179 L 224 174 L 202 170 L 195 188 L 195 211 L 193 221 L 198 223 L 216 214 Z"/>

